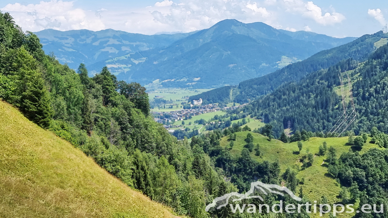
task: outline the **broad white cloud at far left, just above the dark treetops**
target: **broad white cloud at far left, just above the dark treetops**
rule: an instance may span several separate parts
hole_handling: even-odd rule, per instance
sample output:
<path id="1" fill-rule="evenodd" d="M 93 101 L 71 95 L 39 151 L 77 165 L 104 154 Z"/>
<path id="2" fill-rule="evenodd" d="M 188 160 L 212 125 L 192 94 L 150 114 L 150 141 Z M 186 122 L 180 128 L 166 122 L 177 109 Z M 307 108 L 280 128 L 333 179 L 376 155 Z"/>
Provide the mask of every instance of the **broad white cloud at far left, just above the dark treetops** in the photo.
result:
<path id="1" fill-rule="evenodd" d="M 73 1 L 41 1 L 39 4 L 7 4 L 1 11 L 10 12 L 16 23 L 28 31 L 101 30 L 105 26 L 95 13 L 73 7 Z"/>

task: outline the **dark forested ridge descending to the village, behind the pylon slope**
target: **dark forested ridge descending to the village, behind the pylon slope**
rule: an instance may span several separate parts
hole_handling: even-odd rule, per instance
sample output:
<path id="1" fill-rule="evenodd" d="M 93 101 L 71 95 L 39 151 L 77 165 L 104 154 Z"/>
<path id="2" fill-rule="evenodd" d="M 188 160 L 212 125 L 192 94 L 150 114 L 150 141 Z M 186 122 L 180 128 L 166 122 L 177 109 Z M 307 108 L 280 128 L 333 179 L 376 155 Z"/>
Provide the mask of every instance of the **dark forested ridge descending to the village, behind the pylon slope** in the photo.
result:
<path id="1" fill-rule="evenodd" d="M 298 81 L 306 77 L 309 73 L 320 69 L 327 69 L 348 58 L 352 58 L 356 61 L 364 61 L 376 49 L 375 43 L 382 37 L 387 37 L 382 31 L 373 35 L 364 35 L 353 42 L 318 52 L 302 62 L 290 64 L 273 73 L 259 78 L 242 81 L 239 83 L 238 88 L 233 90 L 234 93 L 239 94 L 236 94 L 236 97 L 232 100 L 237 103 L 247 103 L 265 93 L 273 92 L 277 87 L 284 83 Z M 222 94 L 221 92 L 222 90 L 214 89 L 207 93 L 192 96 L 191 98 L 202 98 L 207 100 L 210 97 L 211 99 L 216 99 L 216 97 L 213 96 L 215 95 L 224 97 L 217 99 L 218 102 L 229 101 L 228 95 L 226 93 Z"/>

